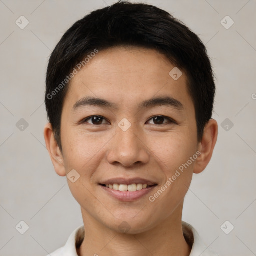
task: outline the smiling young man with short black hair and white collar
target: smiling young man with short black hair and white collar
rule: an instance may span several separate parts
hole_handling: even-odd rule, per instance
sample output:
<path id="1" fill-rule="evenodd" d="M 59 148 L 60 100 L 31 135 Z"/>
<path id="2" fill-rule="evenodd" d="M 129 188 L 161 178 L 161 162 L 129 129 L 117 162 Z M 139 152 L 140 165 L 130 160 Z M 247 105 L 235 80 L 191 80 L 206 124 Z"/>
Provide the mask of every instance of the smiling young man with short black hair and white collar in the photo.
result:
<path id="1" fill-rule="evenodd" d="M 44 137 L 84 226 L 57 255 L 216 255 L 182 221 L 217 123 L 200 39 L 170 14 L 117 2 L 63 35 L 49 60 Z"/>

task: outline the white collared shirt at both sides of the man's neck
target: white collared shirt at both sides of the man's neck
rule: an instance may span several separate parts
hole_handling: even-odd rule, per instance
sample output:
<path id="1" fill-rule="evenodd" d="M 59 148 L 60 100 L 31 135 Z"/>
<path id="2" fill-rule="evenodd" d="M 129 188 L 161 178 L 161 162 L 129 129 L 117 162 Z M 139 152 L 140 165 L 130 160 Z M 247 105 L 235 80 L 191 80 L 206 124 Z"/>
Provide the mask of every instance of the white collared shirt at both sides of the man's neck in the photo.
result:
<path id="1" fill-rule="evenodd" d="M 188 223 L 182 221 L 183 234 L 186 242 L 192 246 L 190 256 L 218 256 L 211 251 L 201 240 L 197 231 Z M 84 238 L 84 226 L 76 228 L 69 236 L 66 244 L 47 256 L 78 256 L 76 247 L 79 247 Z"/>

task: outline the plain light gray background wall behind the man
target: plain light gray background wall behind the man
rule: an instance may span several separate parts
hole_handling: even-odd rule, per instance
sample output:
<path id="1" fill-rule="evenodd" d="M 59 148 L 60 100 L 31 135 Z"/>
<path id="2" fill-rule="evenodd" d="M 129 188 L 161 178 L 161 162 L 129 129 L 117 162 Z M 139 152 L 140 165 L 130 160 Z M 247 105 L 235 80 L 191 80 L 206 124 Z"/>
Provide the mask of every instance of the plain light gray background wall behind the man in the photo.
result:
<path id="1" fill-rule="evenodd" d="M 45 72 L 67 28 L 113 2 L 0 0 L 0 255 L 46 255 L 82 224 L 66 177 L 55 173 L 45 149 Z M 218 141 L 206 170 L 194 175 L 183 220 L 220 255 L 256 255 L 256 1 L 146 2 L 200 36 L 216 75 Z M 21 15 L 29 21 L 24 29 L 15 24 Z M 226 15 L 234 21 L 229 29 L 221 24 Z M 21 118 L 28 127 L 16 126 Z M 23 235 L 15 229 L 21 220 L 29 226 Z M 230 231 L 230 223 L 220 228 L 226 220 L 234 226 L 229 234 L 222 230 Z"/>

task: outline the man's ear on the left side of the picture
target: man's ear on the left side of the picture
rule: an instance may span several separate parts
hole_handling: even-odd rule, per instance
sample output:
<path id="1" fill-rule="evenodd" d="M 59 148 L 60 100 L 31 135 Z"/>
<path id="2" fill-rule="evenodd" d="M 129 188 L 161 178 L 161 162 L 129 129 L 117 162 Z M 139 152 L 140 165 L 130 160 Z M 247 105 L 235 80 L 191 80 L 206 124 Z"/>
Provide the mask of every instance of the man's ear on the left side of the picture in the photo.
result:
<path id="1" fill-rule="evenodd" d="M 63 155 L 59 149 L 59 146 L 54 138 L 52 126 L 50 123 L 47 123 L 44 127 L 44 140 L 49 152 L 51 161 L 53 163 L 54 169 L 59 176 L 65 176 L 65 167 Z"/>

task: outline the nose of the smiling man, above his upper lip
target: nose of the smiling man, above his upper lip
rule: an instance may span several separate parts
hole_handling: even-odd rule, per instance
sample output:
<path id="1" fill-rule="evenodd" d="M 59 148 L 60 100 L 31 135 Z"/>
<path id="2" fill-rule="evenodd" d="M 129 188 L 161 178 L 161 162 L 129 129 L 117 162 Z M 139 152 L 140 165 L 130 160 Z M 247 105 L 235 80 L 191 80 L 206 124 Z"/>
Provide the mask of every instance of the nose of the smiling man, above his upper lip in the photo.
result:
<path id="1" fill-rule="evenodd" d="M 146 164 L 149 161 L 149 149 L 143 136 L 135 131 L 135 125 L 123 131 L 119 127 L 109 144 L 107 161 L 110 164 L 133 167 L 134 165 Z M 137 134 L 135 134 L 137 133 Z"/>

